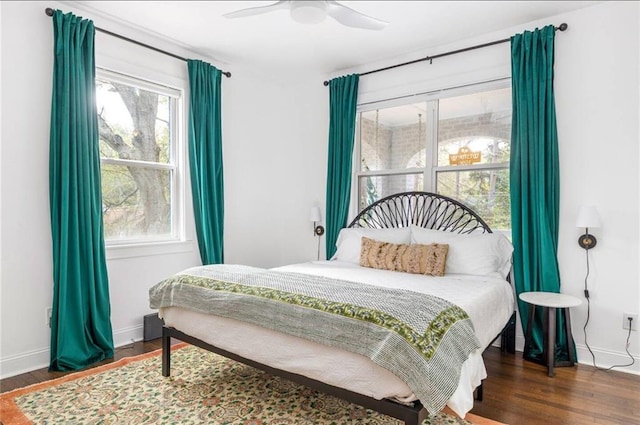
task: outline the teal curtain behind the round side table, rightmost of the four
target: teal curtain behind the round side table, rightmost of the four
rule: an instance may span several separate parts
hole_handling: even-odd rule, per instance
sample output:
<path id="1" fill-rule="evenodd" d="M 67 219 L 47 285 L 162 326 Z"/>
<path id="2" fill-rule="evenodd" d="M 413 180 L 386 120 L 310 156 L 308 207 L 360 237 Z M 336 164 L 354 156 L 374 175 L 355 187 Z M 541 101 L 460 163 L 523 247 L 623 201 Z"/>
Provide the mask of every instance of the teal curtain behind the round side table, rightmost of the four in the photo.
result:
<path id="1" fill-rule="evenodd" d="M 560 167 L 553 94 L 555 28 L 511 37 L 513 122 L 511 134 L 511 220 L 517 294 L 560 292 L 558 215 Z M 529 305 L 518 300 L 523 329 Z M 542 356 L 543 327 L 533 327 L 532 357 Z M 564 321 L 557 320 L 556 360 L 567 360 Z M 541 359 L 542 360 L 542 359 Z"/>

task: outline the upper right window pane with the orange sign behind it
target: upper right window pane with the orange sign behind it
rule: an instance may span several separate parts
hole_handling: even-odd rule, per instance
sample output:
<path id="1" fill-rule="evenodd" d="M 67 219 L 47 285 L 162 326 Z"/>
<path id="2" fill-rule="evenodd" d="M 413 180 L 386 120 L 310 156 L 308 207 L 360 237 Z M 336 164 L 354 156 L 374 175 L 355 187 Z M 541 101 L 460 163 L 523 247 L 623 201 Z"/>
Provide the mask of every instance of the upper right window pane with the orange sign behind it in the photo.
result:
<path id="1" fill-rule="evenodd" d="M 439 101 L 438 165 L 509 161 L 511 89 Z"/>

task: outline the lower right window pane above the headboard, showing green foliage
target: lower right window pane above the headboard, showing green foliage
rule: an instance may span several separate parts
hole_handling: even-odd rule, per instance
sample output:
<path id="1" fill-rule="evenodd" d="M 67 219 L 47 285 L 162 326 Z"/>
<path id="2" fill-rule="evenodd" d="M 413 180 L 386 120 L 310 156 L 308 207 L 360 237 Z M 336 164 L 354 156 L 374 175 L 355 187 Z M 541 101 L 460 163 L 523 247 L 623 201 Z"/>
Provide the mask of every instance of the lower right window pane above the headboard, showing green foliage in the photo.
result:
<path id="1" fill-rule="evenodd" d="M 509 170 L 440 171 L 437 191 L 474 210 L 493 231 L 511 229 Z"/>

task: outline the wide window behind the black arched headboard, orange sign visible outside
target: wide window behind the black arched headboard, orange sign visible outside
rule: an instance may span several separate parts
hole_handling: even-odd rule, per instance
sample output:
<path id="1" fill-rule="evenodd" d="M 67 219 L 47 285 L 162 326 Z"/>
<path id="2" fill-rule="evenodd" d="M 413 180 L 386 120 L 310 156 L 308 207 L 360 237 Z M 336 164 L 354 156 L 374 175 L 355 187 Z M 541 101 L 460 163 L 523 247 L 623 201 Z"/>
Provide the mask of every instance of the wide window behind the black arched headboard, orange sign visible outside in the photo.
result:
<path id="1" fill-rule="evenodd" d="M 358 208 L 397 192 L 457 199 L 494 230 L 511 228 L 508 81 L 361 106 L 354 167 Z"/>

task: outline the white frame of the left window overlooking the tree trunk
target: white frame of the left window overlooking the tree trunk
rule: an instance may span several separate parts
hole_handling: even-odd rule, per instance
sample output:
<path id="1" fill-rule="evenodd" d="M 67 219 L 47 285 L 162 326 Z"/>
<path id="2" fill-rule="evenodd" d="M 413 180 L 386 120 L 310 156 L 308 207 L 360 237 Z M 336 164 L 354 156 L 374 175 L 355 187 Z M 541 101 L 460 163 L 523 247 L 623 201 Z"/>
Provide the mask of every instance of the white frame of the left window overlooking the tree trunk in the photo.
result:
<path id="1" fill-rule="evenodd" d="M 114 240 L 107 239 L 105 247 L 107 259 L 129 258 L 136 256 L 160 255 L 168 253 L 188 252 L 193 249 L 191 241 L 186 239 L 185 225 L 185 90 L 169 84 L 154 82 L 133 75 L 114 71 L 104 67 L 96 67 L 96 80 L 102 79 L 128 84 L 143 90 L 152 91 L 172 100 L 169 108 L 169 162 L 150 162 L 100 156 L 101 177 L 103 164 L 134 165 L 141 168 L 168 170 L 170 175 L 171 233 L 169 235 L 144 238 Z"/>

